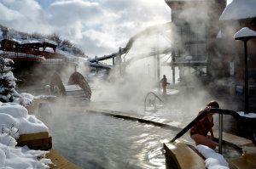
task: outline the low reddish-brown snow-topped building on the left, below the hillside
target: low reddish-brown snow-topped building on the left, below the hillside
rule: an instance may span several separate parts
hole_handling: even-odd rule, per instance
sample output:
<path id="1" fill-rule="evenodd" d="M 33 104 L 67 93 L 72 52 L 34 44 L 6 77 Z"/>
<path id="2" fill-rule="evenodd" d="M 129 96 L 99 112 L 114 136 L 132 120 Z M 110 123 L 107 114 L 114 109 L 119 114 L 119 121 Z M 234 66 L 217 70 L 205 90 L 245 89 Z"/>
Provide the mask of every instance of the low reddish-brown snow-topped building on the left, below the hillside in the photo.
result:
<path id="1" fill-rule="evenodd" d="M 0 53 L 15 61 L 12 71 L 18 79 L 19 88 L 42 88 L 49 84 L 49 78 L 55 71 L 65 74 L 67 70 L 76 70 L 79 63 L 90 67 L 91 71 L 110 70 L 108 65 L 90 63 L 85 57 L 77 57 L 72 52 L 70 54 L 58 48 L 58 44 L 49 39 L 27 37 L 26 34 L 22 36 L 21 33 L 14 33 L 2 25 L 0 28 Z"/>

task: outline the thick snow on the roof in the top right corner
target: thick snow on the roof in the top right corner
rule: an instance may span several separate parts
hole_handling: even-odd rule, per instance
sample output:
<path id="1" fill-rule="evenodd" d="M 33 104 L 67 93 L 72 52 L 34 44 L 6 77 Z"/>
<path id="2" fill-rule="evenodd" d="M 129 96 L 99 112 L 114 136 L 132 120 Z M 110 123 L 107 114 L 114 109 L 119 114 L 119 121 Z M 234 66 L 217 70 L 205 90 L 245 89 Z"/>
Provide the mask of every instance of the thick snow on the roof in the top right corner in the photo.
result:
<path id="1" fill-rule="evenodd" d="M 256 17 L 256 0 L 233 0 L 221 14 L 219 20 L 241 20 Z"/>

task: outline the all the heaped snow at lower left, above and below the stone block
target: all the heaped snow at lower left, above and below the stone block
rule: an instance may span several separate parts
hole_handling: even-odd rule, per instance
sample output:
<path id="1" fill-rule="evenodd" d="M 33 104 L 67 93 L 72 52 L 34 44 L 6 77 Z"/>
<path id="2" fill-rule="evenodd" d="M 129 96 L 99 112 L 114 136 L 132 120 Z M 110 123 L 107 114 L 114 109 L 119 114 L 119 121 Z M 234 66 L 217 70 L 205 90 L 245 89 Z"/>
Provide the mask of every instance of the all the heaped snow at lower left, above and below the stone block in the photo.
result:
<path id="1" fill-rule="evenodd" d="M 31 94 L 21 93 L 21 95 L 23 104 L 33 101 L 34 97 Z M 26 108 L 20 104 L 0 102 L 0 125 L 1 169 L 49 168 L 48 164 L 51 164 L 51 161 L 45 158 L 48 151 L 16 146 L 20 134 L 48 132 L 48 127 L 42 121 L 39 121 L 35 115 L 28 115 Z"/>

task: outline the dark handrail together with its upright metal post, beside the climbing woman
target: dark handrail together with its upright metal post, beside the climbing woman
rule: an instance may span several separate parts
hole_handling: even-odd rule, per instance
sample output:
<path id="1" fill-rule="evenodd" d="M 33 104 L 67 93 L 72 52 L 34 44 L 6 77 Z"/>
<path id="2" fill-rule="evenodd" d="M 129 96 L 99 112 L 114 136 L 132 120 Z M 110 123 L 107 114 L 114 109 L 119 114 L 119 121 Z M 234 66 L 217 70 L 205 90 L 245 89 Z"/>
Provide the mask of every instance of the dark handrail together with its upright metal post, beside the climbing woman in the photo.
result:
<path id="1" fill-rule="evenodd" d="M 183 128 L 182 131 L 178 132 L 175 138 L 172 138 L 170 143 L 173 143 L 177 138 L 183 136 L 185 132 L 188 132 L 191 127 L 193 127 L 198 121 L 201 121 L 209 113 L 218 113 L 219 114 L 219 127 L 218 127 L 218 153 L 222 154 L 222 134 L 223 134 L 223 115 L 232 115 L 236 118 L 237 121 L 241 122 L 241 124 L 248 129 L 251 129 L 251 133 L 249 134 L 250 139 L 253 141 L 253 144 L 256 146 L 256 118 L 248 118 L 245 116 L 241 116 L 236 111 L 233 110 L 222 110 L 212 108 L 211 111 L 203 111 L 201 115 L 195 117 L 193 121 L 191 121 L 186 127 Z M 248 132 L 248 131 L 245 131 Z"/>

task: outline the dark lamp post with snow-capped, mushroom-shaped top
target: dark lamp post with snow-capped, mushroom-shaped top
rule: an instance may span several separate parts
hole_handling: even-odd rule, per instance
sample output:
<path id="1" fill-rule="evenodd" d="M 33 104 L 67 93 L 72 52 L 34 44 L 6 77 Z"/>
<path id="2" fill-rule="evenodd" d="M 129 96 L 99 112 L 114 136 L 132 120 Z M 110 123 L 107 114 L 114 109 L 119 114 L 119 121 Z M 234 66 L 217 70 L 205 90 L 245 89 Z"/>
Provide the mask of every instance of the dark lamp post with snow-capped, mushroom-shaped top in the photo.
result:
<path id="1" fill-rule="evenodd" d="M 247 66 L 247 41 L 253 37 L 256 37 L 256 31 L 252 31 L 247 27 L 241 28 L 234 35 L 235 40 L 241 40 L 244 42 L 244 112 L 248 113 L 248 66 Z"/>

